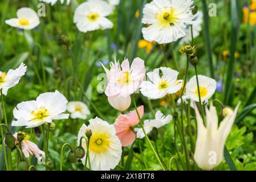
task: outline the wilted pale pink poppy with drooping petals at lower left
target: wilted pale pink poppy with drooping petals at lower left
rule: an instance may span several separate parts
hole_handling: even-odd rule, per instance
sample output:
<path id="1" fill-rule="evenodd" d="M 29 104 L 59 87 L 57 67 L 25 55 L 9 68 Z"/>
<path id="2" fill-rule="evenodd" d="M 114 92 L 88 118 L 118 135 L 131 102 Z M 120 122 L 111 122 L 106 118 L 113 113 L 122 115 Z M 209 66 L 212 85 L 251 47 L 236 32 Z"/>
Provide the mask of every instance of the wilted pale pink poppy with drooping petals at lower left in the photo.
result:
<path id="1" fill-rule="evenodd" d="M 35 143 L 30 142 L 29 135 L 27 135 L 26 133 L 22 133 L 22 134 L 24 136 L 22 142 L 19 142 L 19 140 L 17 139 L 18 133 L 13 134 L 13 137 L 15 138 L 16 146 L 19 147 L 18 143 L 21 143 L 21 150 L 26 158 L 29 158 L 30 154 L 35 155 L 35 157 L 38 159 L 38 164 L 44 164 L 45 163 L 44 152 L 40 150 Z"/>

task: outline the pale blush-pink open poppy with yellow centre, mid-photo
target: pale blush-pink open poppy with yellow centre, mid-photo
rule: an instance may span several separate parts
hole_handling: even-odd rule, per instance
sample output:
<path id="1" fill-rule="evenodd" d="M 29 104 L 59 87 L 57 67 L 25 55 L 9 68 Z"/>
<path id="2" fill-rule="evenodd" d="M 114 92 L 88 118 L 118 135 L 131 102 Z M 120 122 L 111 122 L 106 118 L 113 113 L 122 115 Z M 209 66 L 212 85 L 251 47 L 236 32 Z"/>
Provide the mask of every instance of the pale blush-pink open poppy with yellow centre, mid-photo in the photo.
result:
<path id="1" fill-rule="evenodd" d="M 134 93 L 145 77 L 144 61 L 136 57 L 129 66 L 128 59 L 121 63 L 121 69 L 112 67 L 108 75 L 108 85 L 105 89 L 105 94 L 109 98 L 116 96 L 127 97 Z"/>

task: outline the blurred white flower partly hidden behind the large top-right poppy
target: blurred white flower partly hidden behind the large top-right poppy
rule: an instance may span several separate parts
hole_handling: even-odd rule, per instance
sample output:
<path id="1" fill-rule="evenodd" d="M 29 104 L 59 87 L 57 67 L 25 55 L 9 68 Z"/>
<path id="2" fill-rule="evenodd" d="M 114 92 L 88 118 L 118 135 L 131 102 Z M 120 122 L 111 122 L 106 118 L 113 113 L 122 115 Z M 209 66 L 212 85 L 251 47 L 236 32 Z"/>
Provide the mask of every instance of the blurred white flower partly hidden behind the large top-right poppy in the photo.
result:
<path id="1" fill-rule="evenodd" d="M 203 22 L 203 20 L 202 20 L 202 16 L 203 15 L 202 15 L 201 11 L 197 11 L 197 14 L 194 15 L 194 16 L 195 16 L 194 17 L 194 21 L 192 23 L 192 26 L 193 26 L 193 28 L 192 28 L 192 30 L 193 30 L 193 38 L 197 38 L 200 35 L 200 32 L 202 30 L 201 24 Z M 180 40 L 180 42 L 179 42 L 180 45 L 184 44 L 184 43 L 189 43 L 192 40 L 192 34 L 191 34 L 191 27 L 190 26 L 188 26 L 186 28 L 185 32 L 186 32 L 186 36 L 184 36 Z"/>

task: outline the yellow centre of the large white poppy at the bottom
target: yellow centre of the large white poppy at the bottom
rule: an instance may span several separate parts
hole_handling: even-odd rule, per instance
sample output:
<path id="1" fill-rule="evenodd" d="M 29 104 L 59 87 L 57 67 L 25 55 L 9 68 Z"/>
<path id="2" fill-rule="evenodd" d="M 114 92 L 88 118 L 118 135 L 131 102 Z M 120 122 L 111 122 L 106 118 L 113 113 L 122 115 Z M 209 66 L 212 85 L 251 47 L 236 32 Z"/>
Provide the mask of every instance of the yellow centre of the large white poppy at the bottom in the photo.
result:
<path id="1" fill-rule="evenodd" d="M 104 133 L 92 134 L 90 139 L 90 150 L 94 152 L 104 152 L 109 147 L 109 137 Z"/>

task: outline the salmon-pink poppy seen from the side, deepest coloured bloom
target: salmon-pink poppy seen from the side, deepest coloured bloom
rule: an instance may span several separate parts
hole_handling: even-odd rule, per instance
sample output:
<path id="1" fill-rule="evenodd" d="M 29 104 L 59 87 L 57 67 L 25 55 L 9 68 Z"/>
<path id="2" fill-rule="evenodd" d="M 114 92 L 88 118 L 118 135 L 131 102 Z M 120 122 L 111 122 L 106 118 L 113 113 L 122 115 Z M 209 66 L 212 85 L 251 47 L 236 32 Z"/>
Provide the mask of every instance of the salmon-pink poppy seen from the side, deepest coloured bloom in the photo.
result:
<path id="1" fill-rule="evenodd" d="M 144 106 L 138 107 L 140 118 L 144 114 Z M 122 146 L 130 146 L 136 139 L 136 134 L 132 130 L 132 127 L 137 125 L 140 119 L 136 113 L 136 110 L 131 111 L 128 114 L 120 114 L 116 118 L 114 127 L 116 129 L 116 135 L 120 139 Z"/>

